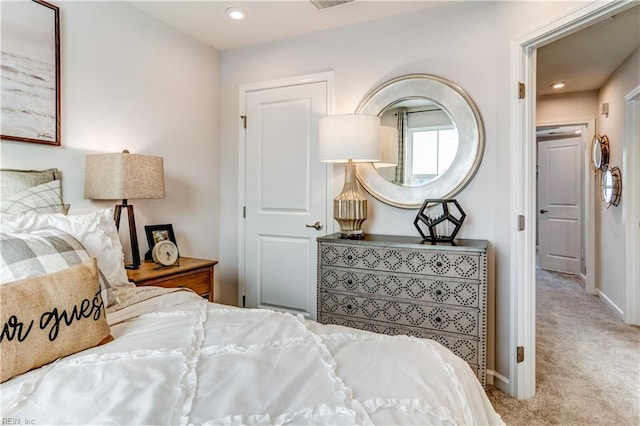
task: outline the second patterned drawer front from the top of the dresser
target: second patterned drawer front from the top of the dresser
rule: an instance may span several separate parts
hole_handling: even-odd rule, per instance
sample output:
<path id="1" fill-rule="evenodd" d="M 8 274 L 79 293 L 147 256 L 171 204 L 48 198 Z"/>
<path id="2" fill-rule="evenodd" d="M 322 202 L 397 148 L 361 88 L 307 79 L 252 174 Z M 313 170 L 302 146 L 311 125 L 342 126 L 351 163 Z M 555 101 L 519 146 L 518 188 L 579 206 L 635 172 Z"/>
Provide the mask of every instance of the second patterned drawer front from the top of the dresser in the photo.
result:
<path id="1" fill-rule="evenodd" d="M 448 305 L 479 306 L 478 283 L 444 281 L 420 276 L 390 275 L 342 268 L 322 268 L 320 288 Z"/>

